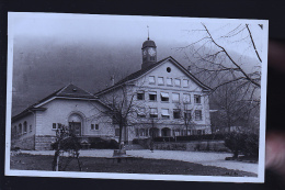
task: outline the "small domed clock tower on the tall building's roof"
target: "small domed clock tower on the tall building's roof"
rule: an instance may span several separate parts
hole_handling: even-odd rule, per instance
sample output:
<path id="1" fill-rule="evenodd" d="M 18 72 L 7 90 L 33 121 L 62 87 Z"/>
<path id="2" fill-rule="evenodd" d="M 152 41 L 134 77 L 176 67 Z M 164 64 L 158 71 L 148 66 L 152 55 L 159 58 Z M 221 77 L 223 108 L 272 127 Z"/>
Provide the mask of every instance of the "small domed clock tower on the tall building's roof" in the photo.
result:
<path id="1" fill-rule="evenodd" d="M 157 46 L 156 43 L 151 40 L 144 42 L 142 47 L 142 64 L 141 69 L 149 67 L 150 65 L 157 63 Z"/>

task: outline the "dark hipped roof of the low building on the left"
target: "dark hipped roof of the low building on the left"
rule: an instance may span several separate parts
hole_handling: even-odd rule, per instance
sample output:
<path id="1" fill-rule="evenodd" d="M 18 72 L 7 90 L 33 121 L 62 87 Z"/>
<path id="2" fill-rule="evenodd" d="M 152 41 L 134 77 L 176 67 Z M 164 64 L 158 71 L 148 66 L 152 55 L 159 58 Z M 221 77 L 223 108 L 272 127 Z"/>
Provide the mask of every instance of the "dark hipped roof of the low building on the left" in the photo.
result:
<path id="1" fill-rule="evenodd" d="M 18 120 L 18 119 L 31 113 L 31 111 L 36 111 L 36 110 L 44 111 L 44 110 L 46 110 L 45 108 L 39 108 L 39 107 L 42 104 L 45 104 L 45 103 L 56 99 L 56 98 L 96 100 L 96 101 L 99 101 L 98 98 L 94 94 L 92 94 L 92 93 L 90 93 L 90 92 L 88 92 L 88 91 L 86 91 L 86 90 L 83 90 L 83 89 L 81 89 L 81 88 L 79 88 L 79 87 L 77 87 L 72 83 L 69 83 L 66 87 L 62 87 L 59 90 L 55 91 L 54 93 L 52 93 L 52 94 L 47 96 L 46 98 L 39 100 L 38 102 L 32 104 L 31 107 L 29 107 L 27 109 L 25 109 L 24 111 L 19 113 L 18 115 L 13 116 L 12 121 Z M 99 101 L 99 102 L 102 103 L 101 101 Z M 105 105 L 105 107 L 107 107 L 107 105 Z"/>

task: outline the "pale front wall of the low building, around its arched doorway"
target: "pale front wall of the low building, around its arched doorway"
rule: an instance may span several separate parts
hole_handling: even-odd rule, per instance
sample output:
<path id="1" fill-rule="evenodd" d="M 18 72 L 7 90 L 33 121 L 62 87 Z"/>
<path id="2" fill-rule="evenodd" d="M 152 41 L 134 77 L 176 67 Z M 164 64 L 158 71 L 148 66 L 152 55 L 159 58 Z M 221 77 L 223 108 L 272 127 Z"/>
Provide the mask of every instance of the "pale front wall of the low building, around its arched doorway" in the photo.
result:
<path id="1" fill-rule="evenodd" d="M 66 126 L 69 125 L 69 116 L 78 114 L 82 119 L 81 135 L 83 136 L 114 136 L 114 127 L 111 125 L 111 119 L 102 116 L 100 111 L 106 110 L 98 102 L 90 102 L 83 100 L 65 100 L 55 99 L 47 104 L 43 105 L 47 108 L 46 111 L 38 112 L 38 128 L 36 135 L 56 135 L 56 128 L 53 128 L 54 123 L 60 123 Z M 99 111 L 100 110 L 100 111 Z M 41 123 L 39 123 L 41 122 Z M 94 124 L 94 128 L 91 128 L 91 124 Z M 95 125 L 99 128 L 95 130 Z"/>

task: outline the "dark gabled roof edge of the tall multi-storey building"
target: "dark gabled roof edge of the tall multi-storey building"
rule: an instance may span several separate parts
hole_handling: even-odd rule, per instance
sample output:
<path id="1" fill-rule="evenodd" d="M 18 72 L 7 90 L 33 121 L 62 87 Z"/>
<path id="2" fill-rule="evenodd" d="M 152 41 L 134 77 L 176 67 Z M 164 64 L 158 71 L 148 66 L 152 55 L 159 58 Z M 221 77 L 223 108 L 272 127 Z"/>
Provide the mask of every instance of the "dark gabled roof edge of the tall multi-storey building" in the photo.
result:
<path id="1" fill-rule="evenodd" d="M 115 89 L 117 87 L 119 87 L 121 85 L 124 85 L 130 80 L 137 79 L 141 76 L 144 76 L 145 74 L 147 74 L 148 71 L 155 69 L 156 67 L 158 67 L 159 65 L 166 63 L 166 60 L 171 60 L 171 63 L 173 63 L 174 65 L 176 65 L 185 75 L 187 75 L 190 78 L 192 78 L 200 87 L 202 87 L 205 90 L 212 90 L 209 87 L 207 87 L 206 85 L 202 83 L 193 74 L 191 74 L 187 69 L 185 69 L 181 64 L 179 64 L 173 57 L 169 56 L 167 58 L 163 58 L 159 62 L 157 62 L 156 64 L 150 65 L 147 68 L 140 69 L 136 72 L 133 72 L 130 75 L 128 75 L 127 77 L 125 77 L 124 79 L 119 80 L 118 82 L 116 82 L 114 86 L 109 87 L 100 92 L 96 92 L 96 96 L 100 96 L 104 92 L 107 92 L 109 90 Z"/>

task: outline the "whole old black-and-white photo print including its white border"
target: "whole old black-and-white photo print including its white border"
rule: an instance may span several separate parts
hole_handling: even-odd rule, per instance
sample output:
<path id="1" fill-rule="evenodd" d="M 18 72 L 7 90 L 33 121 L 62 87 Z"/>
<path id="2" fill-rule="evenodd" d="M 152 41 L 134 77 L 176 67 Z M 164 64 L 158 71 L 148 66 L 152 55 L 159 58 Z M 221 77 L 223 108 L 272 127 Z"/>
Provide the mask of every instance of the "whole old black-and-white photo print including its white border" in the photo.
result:
<path id="1" fill-rule="evenodd" d="M 5 175 L 264 182 L 269 21 L 9 12 Z"/>

